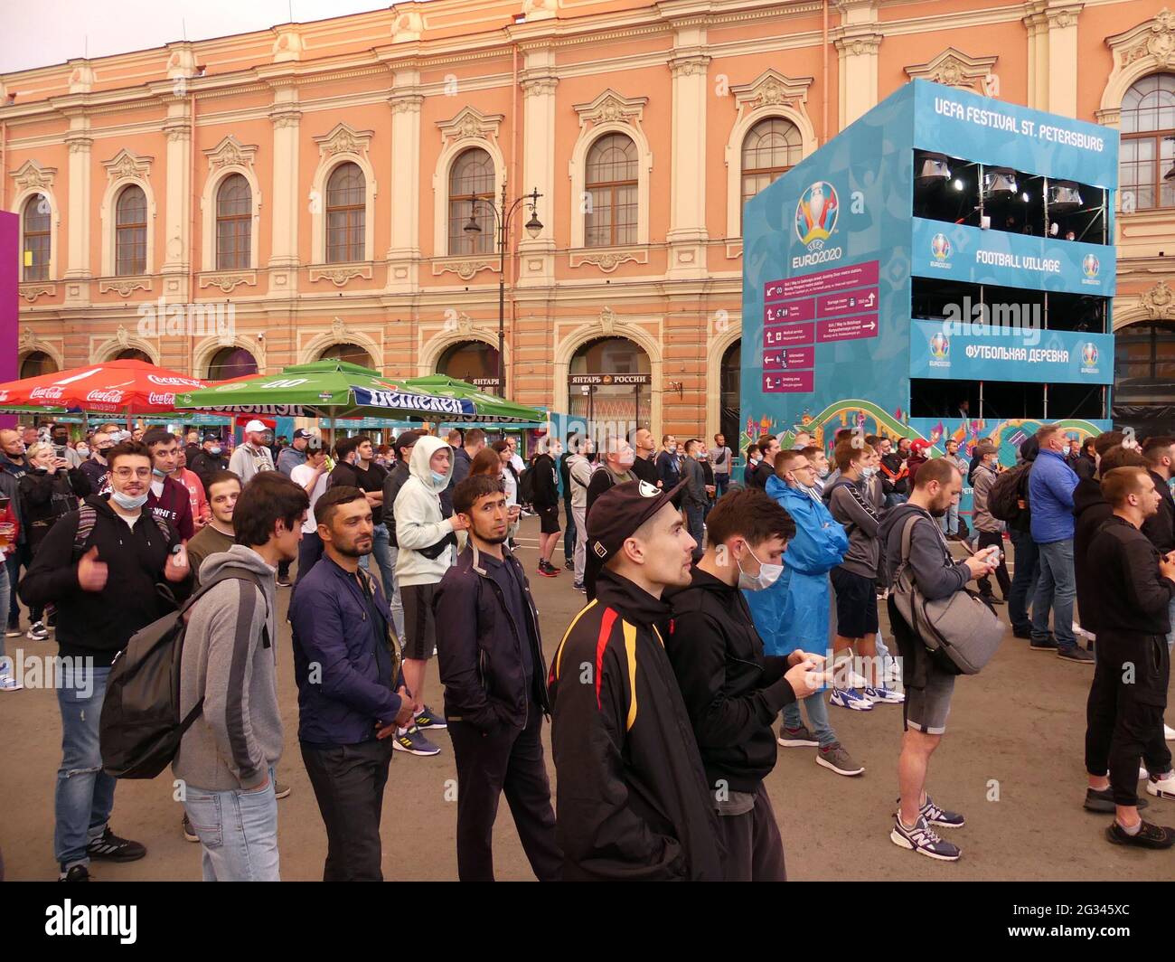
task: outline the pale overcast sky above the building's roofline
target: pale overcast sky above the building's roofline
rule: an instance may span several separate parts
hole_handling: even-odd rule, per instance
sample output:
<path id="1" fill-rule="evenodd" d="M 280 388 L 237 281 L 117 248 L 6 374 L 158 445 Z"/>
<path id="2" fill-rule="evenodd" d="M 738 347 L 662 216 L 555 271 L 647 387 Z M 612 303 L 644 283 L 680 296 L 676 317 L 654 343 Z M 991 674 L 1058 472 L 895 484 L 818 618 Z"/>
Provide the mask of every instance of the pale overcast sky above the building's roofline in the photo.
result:
<path id="1" fill-rule="evenodd" d="M 391 0 L 0 1 L 0 73 L 382 9 Z M 45 25 L 49 27 L 46 29 Z"/>

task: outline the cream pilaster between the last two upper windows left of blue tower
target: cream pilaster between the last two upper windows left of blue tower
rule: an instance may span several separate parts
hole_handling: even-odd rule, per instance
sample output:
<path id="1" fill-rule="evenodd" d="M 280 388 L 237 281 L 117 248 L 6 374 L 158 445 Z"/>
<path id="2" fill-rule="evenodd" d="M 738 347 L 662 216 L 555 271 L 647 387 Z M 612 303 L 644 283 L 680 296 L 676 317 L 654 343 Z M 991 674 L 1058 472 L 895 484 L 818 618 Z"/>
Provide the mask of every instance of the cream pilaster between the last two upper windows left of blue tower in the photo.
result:
<path id="1" fill-rule="evenodd" d="M 673 56 L 672 156 L 670 158 L 670 245 L 672 280 L 706 274 L 706 71 L 705 20 L 677 25 Z"/>

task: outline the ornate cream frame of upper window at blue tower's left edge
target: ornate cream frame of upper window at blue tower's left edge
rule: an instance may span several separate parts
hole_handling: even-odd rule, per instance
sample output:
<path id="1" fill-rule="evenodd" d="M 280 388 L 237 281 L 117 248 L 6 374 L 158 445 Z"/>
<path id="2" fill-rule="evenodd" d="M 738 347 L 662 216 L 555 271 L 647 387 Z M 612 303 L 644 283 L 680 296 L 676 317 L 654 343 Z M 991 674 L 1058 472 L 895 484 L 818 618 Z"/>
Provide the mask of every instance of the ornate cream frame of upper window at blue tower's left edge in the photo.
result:
<path id="1" fill-rule="evenodd" d="M 810 156 L 818 147 L 815 128 L 807 115 L 811 76 L 788 78 L 774 68 L 767 68 L 750 83 L 731 87 L 731 96 L 738 107 L 738 116 L 726 141 L 726 236 L 730 241 L 743 239 L 743 141 L 760 120 L 779 118 L 793 123 L 800 132 L 803 156 Z M 727 249 L 727 254 L 731 252 Z"/>

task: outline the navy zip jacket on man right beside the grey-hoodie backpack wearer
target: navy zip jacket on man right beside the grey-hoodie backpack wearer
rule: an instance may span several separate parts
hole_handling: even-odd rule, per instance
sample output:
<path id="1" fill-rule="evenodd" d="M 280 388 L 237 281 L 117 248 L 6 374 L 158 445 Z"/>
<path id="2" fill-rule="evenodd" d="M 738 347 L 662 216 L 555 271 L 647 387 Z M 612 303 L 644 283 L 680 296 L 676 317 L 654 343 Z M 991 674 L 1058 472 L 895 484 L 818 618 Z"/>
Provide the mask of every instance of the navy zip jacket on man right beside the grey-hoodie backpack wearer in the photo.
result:
<path id="1" fill-rule="evenodd" d="M 400 648 L 391 609 L 371 579 L 376 617 L 355 576 L 323 555 L 290 599 L 300 741 L 357 744 L 400 713 Z M 382 649 L 382 650 L 381 650 Z M 311 676 L 311 667 L 315 666 Z M 395 681 L 392 681 L 395 679 Z"/>

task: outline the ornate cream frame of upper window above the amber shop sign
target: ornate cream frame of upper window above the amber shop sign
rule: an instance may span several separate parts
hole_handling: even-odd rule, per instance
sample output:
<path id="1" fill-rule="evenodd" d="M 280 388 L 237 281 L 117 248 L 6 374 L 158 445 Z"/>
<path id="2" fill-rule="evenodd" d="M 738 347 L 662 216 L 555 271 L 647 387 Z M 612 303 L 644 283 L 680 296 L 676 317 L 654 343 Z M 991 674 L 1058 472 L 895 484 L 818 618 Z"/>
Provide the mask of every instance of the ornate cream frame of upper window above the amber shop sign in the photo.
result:
<path id="1" fill-rule="evenodd" d="M 607 134 L 624 134 L 637 147 L 637 240 L 636 245 L 626 245 L 626 247 L 642 247 L 649 243 L 649 180 L 653 169 L 653 154 L 642 126 L 647 102 L 647 96 L 622 96 L 609 87 L 595 100 L 575 105 L 575 111 L 579 114 L 579 136 L 568 163 L 568 176 L 571 179 L 568 220 L 571 225 L 570 246 L 572 249 L 590 249 L 592 252 L 610 249 L 606 247 L 584 247 L 584 235 L 586 234 L 584 219 L 586 215 L 582 209 L 582 199 L 588 181 L 588 152 L 597 140 Z"/>

